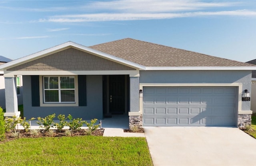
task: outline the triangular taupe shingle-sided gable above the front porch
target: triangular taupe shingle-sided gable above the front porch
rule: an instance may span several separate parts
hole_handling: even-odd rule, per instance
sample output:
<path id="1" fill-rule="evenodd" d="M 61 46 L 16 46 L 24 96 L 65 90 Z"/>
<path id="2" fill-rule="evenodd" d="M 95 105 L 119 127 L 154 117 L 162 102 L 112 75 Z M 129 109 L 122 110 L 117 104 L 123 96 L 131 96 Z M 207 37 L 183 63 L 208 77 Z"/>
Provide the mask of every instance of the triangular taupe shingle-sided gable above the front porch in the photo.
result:
<path id="1" fill-rule="evenodd" d="M 69 48 L 31 62 L 15 66 L 8 71 L 49 70 L 136 70 L 104 58 Z"/>

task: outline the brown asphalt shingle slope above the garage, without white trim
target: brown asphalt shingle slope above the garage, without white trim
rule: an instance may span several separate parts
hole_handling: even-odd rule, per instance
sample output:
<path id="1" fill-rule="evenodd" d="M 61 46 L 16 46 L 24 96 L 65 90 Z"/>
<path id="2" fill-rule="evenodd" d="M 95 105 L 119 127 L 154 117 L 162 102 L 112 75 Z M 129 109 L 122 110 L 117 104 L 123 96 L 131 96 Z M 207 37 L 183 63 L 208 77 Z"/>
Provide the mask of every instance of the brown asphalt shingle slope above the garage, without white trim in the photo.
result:
<path id="1" fill-rule="evenodd" d="M 90 46 L 92 49 L 144 66 L 254 66 L 136 39 L 121 39 Z"/>

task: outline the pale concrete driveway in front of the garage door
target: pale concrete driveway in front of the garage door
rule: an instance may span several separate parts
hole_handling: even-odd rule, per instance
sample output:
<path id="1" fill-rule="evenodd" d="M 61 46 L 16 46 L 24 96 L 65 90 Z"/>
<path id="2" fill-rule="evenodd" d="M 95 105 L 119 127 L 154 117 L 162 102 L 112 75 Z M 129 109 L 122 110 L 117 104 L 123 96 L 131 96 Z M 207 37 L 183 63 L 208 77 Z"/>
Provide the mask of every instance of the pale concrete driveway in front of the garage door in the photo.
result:
<path id="1" fill-rule="evenodd" d="M 232 127 L 144 127 L 154 166 L 255 166 L 256 139 Z"/>

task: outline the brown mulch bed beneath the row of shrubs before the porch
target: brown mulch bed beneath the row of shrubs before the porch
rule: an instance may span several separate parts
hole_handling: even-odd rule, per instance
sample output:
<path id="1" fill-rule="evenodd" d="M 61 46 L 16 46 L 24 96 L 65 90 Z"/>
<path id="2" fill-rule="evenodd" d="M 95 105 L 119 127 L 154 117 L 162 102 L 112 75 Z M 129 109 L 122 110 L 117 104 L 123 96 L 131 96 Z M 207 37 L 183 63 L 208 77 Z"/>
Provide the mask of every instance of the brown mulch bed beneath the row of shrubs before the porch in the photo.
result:
<path id="1" fill-rule="evenodd" d="M 100 129 L 96 129 L 95 131 L 92 132 L 91 135 L 102 136 L 103 133 L 104 133 L 104 130 L 102 132 Z M 84 129 L 81 129 L 80 131 L 76 131 L 76 132 L 72 131 L 70 136 L 66 135 L 65 130 L 62 130 L 61 132 L 54 130 L 52 134 L 50 134 L 49 132 L 44 132 L 44 130 L 39 130 L 38 135 L 33 135 L 31 131 L 25 132 L 25 130 L 18 130 L 18 138 L 74 137 L 74 136 L 82 136 L 82 135 L 86 135 Z M 5 140 L 2 142 L 0 141 L 0 143 L 12 141 L 18 138 L 17 137 L 15 138 L 13 133 L 5 133 Z"/>

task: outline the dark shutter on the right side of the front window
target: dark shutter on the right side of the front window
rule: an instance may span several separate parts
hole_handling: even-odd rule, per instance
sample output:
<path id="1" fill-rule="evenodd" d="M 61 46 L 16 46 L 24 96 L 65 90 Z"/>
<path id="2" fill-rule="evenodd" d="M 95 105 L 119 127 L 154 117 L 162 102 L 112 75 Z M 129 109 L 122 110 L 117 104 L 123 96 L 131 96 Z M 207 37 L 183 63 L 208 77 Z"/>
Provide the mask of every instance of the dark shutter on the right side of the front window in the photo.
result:
<path id="1" fill-rule="evenodd" d="M 79 106 L 86 106 L 86 75 L 78 75 Z"/>

